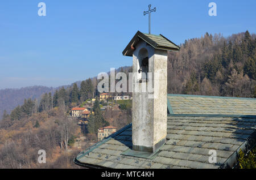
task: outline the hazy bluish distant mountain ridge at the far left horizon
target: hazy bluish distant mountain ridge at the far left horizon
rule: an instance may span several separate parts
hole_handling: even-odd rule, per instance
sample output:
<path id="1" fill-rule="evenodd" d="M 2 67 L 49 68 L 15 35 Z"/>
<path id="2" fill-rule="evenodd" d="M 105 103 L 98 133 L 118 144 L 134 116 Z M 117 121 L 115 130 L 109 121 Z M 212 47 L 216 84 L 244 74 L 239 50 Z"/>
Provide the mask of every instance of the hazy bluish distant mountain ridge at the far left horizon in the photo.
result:
<path id="1" fill-rule="evenodd" d="M 43 93 L 53 92 L 54 88 L 45 86 L 32 86 L 20 89 L 1 89 L 0 90 L 0 120 L 3 112 L 10 113 L 16 106 L 22 105 L 25 98 L 40 99 Z"/>

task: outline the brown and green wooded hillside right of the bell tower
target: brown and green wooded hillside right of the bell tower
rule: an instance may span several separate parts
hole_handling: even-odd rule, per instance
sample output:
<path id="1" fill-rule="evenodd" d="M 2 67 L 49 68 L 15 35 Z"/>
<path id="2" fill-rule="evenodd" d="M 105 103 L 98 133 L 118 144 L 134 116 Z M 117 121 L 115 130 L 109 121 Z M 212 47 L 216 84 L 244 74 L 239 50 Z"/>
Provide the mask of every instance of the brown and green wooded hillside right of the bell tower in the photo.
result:
<path id="1" fill-rule="evenodd" d="M 256 97 L 255 34 L 186 40 L 168 54 L 168 93 Z"/>

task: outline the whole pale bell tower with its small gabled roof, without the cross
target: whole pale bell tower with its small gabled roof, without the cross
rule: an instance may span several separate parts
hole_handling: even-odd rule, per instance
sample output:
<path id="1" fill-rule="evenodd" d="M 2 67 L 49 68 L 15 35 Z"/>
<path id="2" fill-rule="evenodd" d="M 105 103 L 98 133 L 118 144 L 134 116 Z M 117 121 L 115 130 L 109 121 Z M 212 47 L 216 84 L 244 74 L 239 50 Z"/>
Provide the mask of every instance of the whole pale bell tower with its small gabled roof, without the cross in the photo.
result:
<path id="1" fill-rule="evenodd" d="M 156 152 L 167 135 L 167 51 L 179 46 L 162 35 L 137 32 L 123 50 L 133 57 L 133 150 Z"/>

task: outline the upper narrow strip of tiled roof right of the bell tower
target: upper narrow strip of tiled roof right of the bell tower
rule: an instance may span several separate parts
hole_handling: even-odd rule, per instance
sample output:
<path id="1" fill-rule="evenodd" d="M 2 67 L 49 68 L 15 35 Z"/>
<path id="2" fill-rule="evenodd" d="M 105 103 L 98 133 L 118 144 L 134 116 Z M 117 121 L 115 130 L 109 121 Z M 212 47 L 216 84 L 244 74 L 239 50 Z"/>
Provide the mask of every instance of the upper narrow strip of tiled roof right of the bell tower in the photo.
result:
<path id="1" fill-rule="evenodd" d="M 168 101 L 174 114 L 256 115 L 256 98 L 169 94 Z"/>

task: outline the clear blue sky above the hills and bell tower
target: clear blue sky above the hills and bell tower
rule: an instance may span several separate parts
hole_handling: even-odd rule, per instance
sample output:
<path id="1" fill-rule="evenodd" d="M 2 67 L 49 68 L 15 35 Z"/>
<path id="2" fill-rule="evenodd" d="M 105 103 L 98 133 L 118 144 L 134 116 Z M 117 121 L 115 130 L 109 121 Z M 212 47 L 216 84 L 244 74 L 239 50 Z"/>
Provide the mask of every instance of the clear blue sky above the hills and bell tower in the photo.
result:
<path id="1" fill-rule="evenodd" d="M 38 3 L 46 16 L 38 16 Z M 217 4 L 217 16 L 208 4 Z M 156 7 L 151 33 L 176 44 L 205 32 L 256 32 L 256 1 L 59 1 L 0 2 L 0 89 L 57 87 L 130 66 L 122 51 L 138 30 L 148 32 L 148 4 Z"/>

